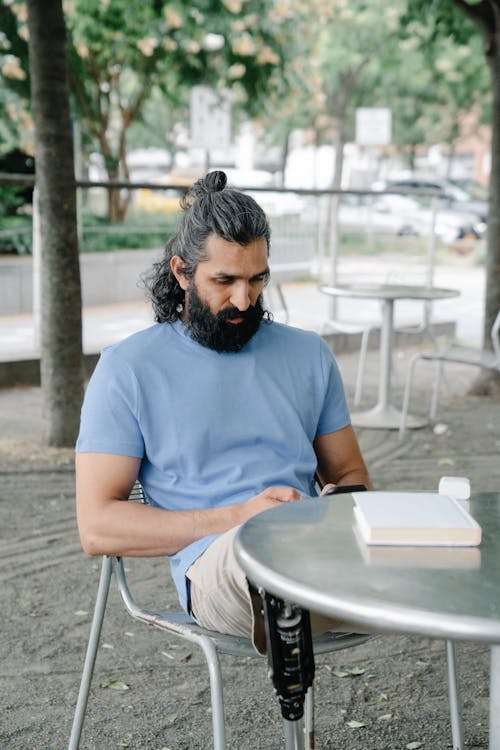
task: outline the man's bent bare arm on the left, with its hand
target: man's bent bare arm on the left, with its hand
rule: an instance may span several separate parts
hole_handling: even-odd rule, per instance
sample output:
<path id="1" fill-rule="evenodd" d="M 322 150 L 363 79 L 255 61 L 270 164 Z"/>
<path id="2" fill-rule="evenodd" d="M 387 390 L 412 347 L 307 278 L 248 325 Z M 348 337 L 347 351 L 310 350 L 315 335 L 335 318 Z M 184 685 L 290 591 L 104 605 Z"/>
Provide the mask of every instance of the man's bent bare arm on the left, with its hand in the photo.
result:
<path id="1" fill-rule="evenodd" d="M 91 555 L 172 555 L 191 542 L 228 531 L 262 510 L 297 500 L 288 487 L 268 487 L 245 503 L 221 508 L 168 511 L 126 502 L 140 459 L 77 453 L 76 505 L 80 540 Z"/>

